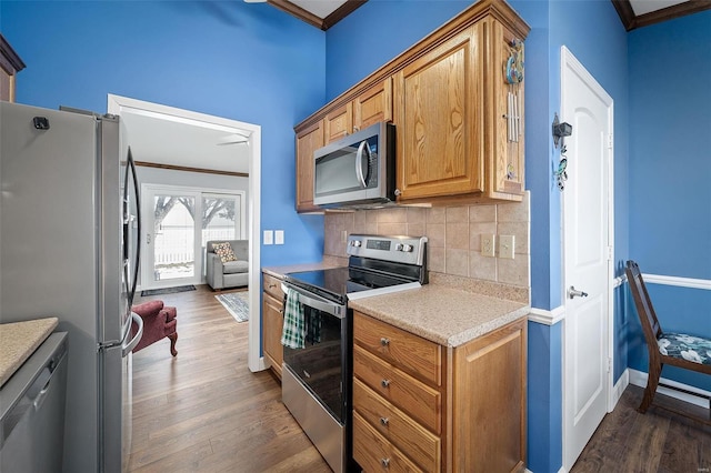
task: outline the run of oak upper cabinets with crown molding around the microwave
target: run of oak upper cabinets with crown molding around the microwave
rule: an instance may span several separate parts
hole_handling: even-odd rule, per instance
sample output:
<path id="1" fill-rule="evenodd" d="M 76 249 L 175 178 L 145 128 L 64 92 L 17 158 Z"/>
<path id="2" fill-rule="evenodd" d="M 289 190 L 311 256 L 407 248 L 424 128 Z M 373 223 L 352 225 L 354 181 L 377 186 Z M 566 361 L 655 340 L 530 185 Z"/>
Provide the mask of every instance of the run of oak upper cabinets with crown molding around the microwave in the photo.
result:
<path id="1" fill-rule="evenodd" d="M 504 0 L 479 0 L 294 130 L 321 127 L 327 144 L 392 121 L 398 203 L 521 201 L 524 84 L 507 64 L 529 31 Z"/>

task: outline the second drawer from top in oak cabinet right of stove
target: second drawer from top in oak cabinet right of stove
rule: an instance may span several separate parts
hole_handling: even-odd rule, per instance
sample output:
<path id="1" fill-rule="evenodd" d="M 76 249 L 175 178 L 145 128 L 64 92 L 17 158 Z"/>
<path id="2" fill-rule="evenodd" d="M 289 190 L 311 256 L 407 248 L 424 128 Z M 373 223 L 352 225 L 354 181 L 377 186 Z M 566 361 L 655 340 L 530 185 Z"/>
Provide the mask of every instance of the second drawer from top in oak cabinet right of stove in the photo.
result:
<path id="1" fill-rule="evenodd" d="M 384 363 L 360 346 L 353 346 L 353 374 L 415 421 L 441 433 L 440 392 Z"/>

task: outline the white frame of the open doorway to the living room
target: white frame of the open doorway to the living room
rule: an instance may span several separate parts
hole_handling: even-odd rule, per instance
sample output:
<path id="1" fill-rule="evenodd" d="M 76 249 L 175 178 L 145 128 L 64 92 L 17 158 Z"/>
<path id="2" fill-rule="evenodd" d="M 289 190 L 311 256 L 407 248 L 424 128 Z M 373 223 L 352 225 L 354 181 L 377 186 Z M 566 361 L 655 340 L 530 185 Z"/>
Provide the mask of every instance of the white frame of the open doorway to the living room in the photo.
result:
<path id="1" fill-rule="evenodd" d="M 114 94 L 108 95 L 109 113 L 120 115 L 122 112 L 143 114 L 164 120 L 178 121 L 186 124 L 199 124 L 204 128 L 224 130 L 232 129 L 233 132 L 249 134 L 248 147 L 249 160 L 249 340 L 247 364 L 250 371 L 261 371 L 266 369 L 264 360 L 260 356 L 261 346 L 261 251 L 260 251 L 260 228 L 261 228 L 261 127 L 258 124 L 230 120 L 221 117 L 208 115 L 189 110 L 176 109 L 158 103 L 144 102 L 142 100 L 130 99 Z M 121 149 L 126 149 L 128 143 L 121 143 Z"/>

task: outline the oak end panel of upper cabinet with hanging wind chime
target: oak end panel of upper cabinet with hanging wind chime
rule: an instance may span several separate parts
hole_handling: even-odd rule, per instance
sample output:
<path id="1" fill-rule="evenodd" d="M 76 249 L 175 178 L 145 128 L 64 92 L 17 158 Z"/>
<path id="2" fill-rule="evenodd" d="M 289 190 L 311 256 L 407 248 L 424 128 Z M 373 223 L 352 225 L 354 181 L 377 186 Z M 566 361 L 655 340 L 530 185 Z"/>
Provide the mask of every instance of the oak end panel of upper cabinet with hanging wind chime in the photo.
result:
<path id="1" fill-rule="evenodd" d="M 491 160 L 487 169 L 487 192 L 494 199 L 520 201 L 524 182 L 524 87 L 523 81 L 509 84 L 504 80 L 511 43 L 517 38 L 498 21 L 489 20 L 487 27 L 488 43 L 491 44 L 487 68 L 492 78 L 487 92 L 492 98 L 487 111 L 490 124 L 485 127 L 485 155 Z"/>

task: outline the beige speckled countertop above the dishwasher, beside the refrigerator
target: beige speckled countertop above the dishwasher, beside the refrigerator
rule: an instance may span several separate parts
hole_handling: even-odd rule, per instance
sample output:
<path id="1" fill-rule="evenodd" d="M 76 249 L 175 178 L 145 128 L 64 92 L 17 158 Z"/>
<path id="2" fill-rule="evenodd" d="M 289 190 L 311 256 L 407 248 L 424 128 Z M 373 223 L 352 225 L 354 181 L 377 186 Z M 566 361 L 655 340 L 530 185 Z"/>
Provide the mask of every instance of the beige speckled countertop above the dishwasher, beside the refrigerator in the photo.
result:
<path id="1" fill-rule="evenodd" d="M 57 318 L 0 324 L 0 386 L 57 328 Z"/>

